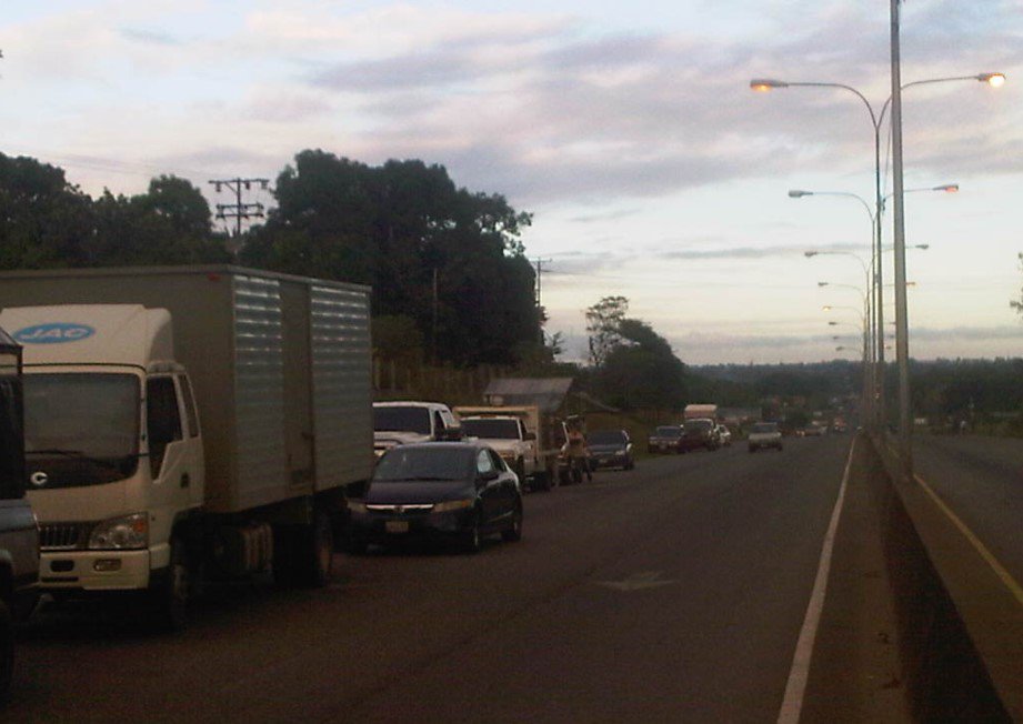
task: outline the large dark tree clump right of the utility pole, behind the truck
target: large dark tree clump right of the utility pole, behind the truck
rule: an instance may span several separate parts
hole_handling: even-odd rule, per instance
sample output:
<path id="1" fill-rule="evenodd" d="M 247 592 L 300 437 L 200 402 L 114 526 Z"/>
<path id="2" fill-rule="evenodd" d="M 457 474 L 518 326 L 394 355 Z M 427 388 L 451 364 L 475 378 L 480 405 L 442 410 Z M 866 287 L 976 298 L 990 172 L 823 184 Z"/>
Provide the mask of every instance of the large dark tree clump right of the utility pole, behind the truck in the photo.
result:
<path id="1" fill-rule="evenodd" d="M 441 165 L 368 167 L 302 151 L 244 263 L 372 285 L 373 313 L 414 320 L 441 361 L 511 364 L 538 344 L 531 222 L 499 194 L 460 189 Z"/>

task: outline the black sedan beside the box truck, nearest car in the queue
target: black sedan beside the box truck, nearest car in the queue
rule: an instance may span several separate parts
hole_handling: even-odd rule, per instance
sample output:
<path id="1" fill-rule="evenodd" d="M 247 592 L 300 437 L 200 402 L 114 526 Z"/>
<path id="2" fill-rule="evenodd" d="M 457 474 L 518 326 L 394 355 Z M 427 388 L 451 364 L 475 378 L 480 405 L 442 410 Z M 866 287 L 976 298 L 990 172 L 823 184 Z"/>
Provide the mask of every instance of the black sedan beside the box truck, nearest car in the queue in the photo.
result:
<path id="1" fill-rule="evenodd" d="M 349 510 L 349 547 L 401 540 L 454 541 L 480 550 L 483 537 L 522 537 L 522 491 L 501 456 L 479 442 L 399 445 L 377 463 L 362 500 Z"/>

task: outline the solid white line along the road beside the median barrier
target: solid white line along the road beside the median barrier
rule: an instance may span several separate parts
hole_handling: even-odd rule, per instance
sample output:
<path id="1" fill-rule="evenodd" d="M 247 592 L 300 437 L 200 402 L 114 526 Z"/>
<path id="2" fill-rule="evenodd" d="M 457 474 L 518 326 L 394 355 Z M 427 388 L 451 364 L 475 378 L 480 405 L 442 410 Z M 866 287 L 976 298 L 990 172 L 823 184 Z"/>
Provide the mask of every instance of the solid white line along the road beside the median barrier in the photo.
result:
<path id="1" fill-rule="evenodd" d="M 821 562 L 818 564 L 818 576 L 813 582 L 813 593 L 810 594 L 810 605 L 806 606 L 806 616 L 803 619 L 803 627 L 800 630 L 800 637 L 795 644 L 795 655 L 792 657 L 792 668 L 789 671 L 789 682 L 785 684 L 785 697 L 778 713 L 779 724 L 798 724 L 803 711 L 806 680 L 810 677 L 810 658 L 813 656 L 813 642 L 816 640 L 821 613 L 824 611 L 824 595 L 828 592 L 828 573 L 831 571 L 835 531 L 839 527 L 839 517 L 842 515 L 842 505 L 845 503 L 845 485 L 849 482 L 849 471 L 852 467 L 855 448 L 856 441 L 853 440 L 853 444 L 849 448 L 849 460 L 845 461 L 845 473 L 842 475 L 839 500 L 835 501 L 834 510 L 831 512 L 831 523 L 824 534 Z"/>

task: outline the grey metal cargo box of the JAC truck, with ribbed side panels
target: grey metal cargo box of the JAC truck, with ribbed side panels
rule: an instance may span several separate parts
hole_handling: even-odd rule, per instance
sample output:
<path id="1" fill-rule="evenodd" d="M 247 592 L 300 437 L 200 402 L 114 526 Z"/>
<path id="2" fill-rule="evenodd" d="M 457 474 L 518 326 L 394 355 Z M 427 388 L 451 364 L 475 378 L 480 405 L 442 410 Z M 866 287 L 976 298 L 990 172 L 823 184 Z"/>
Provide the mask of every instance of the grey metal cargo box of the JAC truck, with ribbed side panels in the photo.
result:
<path id="1" fill-rule="evenodd" d="M 0 309 L 50 304 L 170 312 L 200 408 L 210 512 L 370 476 L 369 288 L 230 265 L 0 273 Z"/>

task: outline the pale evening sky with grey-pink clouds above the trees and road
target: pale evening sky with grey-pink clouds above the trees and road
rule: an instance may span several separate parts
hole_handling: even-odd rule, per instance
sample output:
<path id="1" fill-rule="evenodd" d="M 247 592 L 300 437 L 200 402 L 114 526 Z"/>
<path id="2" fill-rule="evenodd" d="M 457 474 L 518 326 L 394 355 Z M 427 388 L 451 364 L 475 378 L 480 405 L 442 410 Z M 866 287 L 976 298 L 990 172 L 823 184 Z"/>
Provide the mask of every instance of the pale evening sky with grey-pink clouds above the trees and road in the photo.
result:
<path id="1" fill-rule="evenodd" d="M 870 117 L 749 81 L 841 82 L 880 110 L 889 32 L 886 0 L 8 0 L 0 152 L 92 194 L 174 173 L 214 203 L 209 179 L 273 179 L 307 148 L 440 163 L 534 214 L 566 356 L 584 309 L 621 294 L 689 363 L 825 360 L 857 343 L 864 271 L 804 252 L 867 257 L 869 212 L 788 191 L 872 200 Z M 905 198 L 907 243 L 929 245 L 906 261 L 920 359 L 1023 353 L 1023 2 L 903 3 L 904 83 L 987 71 L 1005 86 L 903 98 L 905 188 L 961 187 Z"/>

